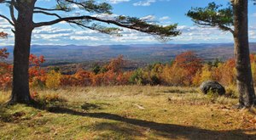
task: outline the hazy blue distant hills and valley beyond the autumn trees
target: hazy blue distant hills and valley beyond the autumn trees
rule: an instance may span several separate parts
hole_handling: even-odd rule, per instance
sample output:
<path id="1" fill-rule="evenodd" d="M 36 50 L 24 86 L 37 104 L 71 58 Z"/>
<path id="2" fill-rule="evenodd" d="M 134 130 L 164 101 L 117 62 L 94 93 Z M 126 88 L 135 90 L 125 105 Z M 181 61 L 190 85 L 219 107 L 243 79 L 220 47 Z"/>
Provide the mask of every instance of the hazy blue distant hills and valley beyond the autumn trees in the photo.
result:
<path id="1" fill-rule="evenodd" d="M 3 47 L 2 47 L 3 48 Z M 7 47 L 9 52 L 13 47 Z M 256 53 L 256 43 L 250 44 L 251 53 Z M 32 53 L 44 55 L 48 64 L 107 61 L 119 54 L 125 59 L 143 64 L 167 62 L 178 53 L 193 50 L 202 59 L 229 59 L 233 57 L 232 43 L 216 44 L 151 44 L 151 45 L 102 45 L 102 46 L 48 46 L 33 45 Z M 10 57 L 12 59 L 12 56 Z"/>

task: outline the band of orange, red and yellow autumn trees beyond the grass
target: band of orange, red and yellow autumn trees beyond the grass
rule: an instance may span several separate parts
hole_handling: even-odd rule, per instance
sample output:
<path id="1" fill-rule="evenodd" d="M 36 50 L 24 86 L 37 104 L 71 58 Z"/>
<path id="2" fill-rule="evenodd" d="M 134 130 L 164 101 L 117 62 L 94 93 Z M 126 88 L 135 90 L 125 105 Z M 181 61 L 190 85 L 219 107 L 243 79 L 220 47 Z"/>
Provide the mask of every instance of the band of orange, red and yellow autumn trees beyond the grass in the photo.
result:
<path id="1" fill-rule="evenodd" d="M 5 62 L 9 57 L 6 48 L 0 49 L 0 87 L 11 86 L 12 65 Z M 251 54 L 253 81 L 256 82 L 256 55 Z M 184 52 L 176 56 L 172 63 L 149 64 L 137 70 L 124 70 L 125 59 L 122 55 L 111 59 L 108 64 L 95 65 L 91 70 L 77 70 L 73 75 L 61 74 L 58 69 L 42 68 L 44 56 L 31 54 L 29 58 L 30 87 L 51 88 L 59 87 L 88 87 L 116 85 L 165 85 L 165 86 L 194 86 L 203 81 L 219 81 L 224 86 L 236 85 L 235 60 L 221 62 L 204 62 L 194 52 Z"/>

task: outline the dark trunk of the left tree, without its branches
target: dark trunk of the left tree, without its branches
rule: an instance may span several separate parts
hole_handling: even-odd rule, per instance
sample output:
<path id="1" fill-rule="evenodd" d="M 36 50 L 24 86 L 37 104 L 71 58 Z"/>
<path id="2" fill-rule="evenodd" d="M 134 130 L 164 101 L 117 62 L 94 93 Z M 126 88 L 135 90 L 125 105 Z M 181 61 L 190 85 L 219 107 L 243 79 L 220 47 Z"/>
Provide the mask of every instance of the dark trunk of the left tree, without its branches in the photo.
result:
<path id="1" fill-rule="evenodd" d="M 14 78 L 11 104 L 29 104 L 32 100 L 29 92 L 28 68 L 34 3 L 33 0 L 17 1 L 18 18 L 15 23 Z"/>

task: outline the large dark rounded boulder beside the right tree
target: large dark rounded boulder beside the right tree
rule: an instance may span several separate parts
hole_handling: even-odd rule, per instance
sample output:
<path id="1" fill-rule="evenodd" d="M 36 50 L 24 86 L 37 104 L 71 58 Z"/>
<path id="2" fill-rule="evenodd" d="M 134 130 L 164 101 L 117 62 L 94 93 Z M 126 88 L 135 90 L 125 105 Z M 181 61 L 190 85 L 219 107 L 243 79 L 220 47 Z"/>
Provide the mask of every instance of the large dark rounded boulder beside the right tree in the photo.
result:
<path id="1" fill-rule="evenodd" d="M 220 85 L 217 81 L 204 81 L 201 83 L 200 86 L 201 92 L 204 94 L 207 94 L 208 92 L 217 92 L 218 95 L 224 95 L 225 94 L 225 88 Z"/>

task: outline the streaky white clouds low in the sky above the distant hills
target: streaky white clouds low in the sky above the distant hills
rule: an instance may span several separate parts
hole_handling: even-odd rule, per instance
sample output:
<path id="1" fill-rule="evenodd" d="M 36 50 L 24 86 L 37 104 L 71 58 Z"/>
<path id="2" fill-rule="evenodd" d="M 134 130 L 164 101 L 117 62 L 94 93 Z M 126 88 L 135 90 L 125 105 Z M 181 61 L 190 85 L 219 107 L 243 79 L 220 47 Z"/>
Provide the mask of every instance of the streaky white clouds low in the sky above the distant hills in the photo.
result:
<path id="1" fill-rule="evenodd" d="M 166 20 L 169 17 L 163 16 L 157 18 L 154 15 L 143 17 L 145 20 Z M 163 21 L 165 22 L 165 21 Z M 13 45 L 14 34 L 10 29 L 12 26 L 6 20 L 0 19 L 0 31 L 9 33 L 9 38 L 0 41 L 0 45 Z M 172 43 L 200 43 L 200 42 L 233 42 L 233 37 L 228 31 L 219 31 L 218 28 L 201 28 L 198 26 L 179 25 L 178 30 L 183 34 L 173 37 Z M 72 28 L 69 25 L 61 24 L 53 26 L 44 26 L 36 28 L 32 34 L 32 44 L 53 44 L 53 45 L 111 45 L 111 44 L 150 44 L 159 43 L 154 36 L 123 29 L 120 31 L 123 36 L 109 36 L 97 31 L 81 30 L 81 28 Z M 249 26 L 249 39 L 256 41 L 256 26 Z"/>

